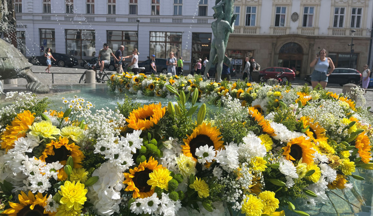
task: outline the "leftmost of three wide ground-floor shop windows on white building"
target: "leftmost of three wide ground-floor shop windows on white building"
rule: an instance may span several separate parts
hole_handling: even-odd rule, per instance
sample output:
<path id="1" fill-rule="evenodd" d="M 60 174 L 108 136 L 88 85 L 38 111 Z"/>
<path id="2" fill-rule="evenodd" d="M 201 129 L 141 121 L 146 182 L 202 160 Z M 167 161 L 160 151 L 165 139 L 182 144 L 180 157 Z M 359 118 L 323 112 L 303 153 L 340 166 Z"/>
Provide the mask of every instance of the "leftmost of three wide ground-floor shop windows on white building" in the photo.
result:
<path id="1" fill-rule="evenodd" d="M 96 55 L 94 30 L 65 29 L 65 32 L 66 54 L 78 59 L 91 59 Z"/>

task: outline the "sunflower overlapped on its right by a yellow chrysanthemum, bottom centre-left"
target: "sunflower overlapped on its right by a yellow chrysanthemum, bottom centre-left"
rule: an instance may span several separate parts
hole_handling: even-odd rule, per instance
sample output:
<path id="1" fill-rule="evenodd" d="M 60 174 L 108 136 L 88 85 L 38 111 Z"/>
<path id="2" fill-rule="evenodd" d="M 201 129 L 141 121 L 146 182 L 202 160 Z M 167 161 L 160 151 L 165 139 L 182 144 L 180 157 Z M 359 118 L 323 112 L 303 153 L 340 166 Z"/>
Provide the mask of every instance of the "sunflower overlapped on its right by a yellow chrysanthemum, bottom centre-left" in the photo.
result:
<path id="1" fill-rule="evenodd" d="M 133 191 L 133 198 L 146 198 L 154 194 L 154 189 L 151 189 L 151 185 L 148 185 L 147 181 L 150 180 L 149 174 L 155 170 L 165 169 L 162 165 L 158 165 L 158 161 L 150 157 L 148 162 L 142 162 L 138 167 L 130 169 L 129 173 L 124 173 L 126 180 L 123 184 L 128 186 L 124 191 Z"/>

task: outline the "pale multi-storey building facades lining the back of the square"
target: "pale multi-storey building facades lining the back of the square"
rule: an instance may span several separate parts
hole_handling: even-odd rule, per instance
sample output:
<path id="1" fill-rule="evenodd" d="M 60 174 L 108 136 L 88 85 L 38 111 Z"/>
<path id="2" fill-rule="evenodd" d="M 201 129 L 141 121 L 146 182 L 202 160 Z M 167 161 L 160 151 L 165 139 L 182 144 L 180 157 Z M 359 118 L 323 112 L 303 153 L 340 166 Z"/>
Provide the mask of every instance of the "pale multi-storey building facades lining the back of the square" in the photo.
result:
<path id="1" fill-rule="evenodd" d="M 108 43 L 113 51 L 125 45 L 124 55 L 138 47 L 140 61 L 152 54 L 167 58 L 174 51 L 191 67 L 196 59 L 209 57 L 215 0 L 14 0 L 14 4 L 18 48 L 26 56 L 50 47 L 90 59 Z M 361 70 L 372 62 L 373 0 L 235 0 L 234 5 L 237 20 L 227 52 L 238 71 L 245 57 L 255 56 L 262 68 L 289 67 L 302 78 L 311 73 L 309 63 L 323 48 L 336 67 Z"/>

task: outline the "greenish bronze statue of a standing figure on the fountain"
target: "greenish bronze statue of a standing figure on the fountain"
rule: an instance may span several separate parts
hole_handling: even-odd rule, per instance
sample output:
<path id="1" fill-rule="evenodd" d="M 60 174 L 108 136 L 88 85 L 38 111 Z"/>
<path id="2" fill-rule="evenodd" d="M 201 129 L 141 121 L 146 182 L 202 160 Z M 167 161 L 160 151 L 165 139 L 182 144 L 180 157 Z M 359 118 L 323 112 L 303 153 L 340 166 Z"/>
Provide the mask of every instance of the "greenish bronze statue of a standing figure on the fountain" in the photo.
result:
<path id="1" fill-rule="evenodd" d="M 215 11 L 214 17 L 216 20 L 211 23 L 214 38 L 211 42 L 210 61 L 206 65 L 204 79 L 207 77 L 207 72 L 210 69 L 211 64 L 217 63 L 215 80 L 216 82 L 221 82 L 223 62 L 228 63 L 230 66 L 230 61 L 225 57 L 224 53 L 229 34 L 234 31 L 234 21 L 236 20 L 236 16 L 232 15 L 234 0 L 222 0 L 221 2 L 216 0 L 216 2 L 217 4 L 212 7 Z"/>

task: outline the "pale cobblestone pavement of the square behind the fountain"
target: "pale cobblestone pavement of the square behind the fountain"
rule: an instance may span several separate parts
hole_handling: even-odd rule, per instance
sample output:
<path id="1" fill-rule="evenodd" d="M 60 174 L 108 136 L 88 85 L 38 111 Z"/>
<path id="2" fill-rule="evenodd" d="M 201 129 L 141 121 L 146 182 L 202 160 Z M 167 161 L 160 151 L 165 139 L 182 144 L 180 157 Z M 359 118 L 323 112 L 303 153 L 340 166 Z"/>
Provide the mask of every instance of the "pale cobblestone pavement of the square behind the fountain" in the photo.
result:
<path id="1" fill-rule="evenodd" d="M 43 83 L 47 85 L 52 84 L 52 76 L 54 84 L 78 84 L 79 79 L 81 75 L 84 73 L 86 69 L 81 68 L 80 66 L 75 66 L 73 68 L 61 68 L 52 66 L 50 71 L 51 73 L 45 73 L 46 66 L 32 66 L 32 71 L 36 75 L 37 78 L 39 78 Z M 109 71 L 107 71 L 109 72 Z M 53 74 L 53 75 L 52 75 Z M 242 74 L 237 74 L 236 77 L 233 77 L 232 79 L 238 79 Z M 18 85 L 26 85 L 27 82 L 24 79 L 18 79 L 17 81 Z M 292 82 L 292 85 L 303 85 L 305 83 L 304 80 L 297 79 Z M 105 85 L 105 84 L 101 84 Z M 7 85 L 4 86 L 4 89 L 6 90 Z M 326 87 L 326 90 L 335 92 L 337 94 L 342 93 L 342 87 L 335 84 L 328 84 Z M 364 107 L 372 107 L 373 108 L 373 89 L 368 89 L 367 93 L 364 95 L 366 104 Z M 357 101 L 358 105 L 361 105 L 361 100 Z M 373 111 L 373 109 L 371 109 Z"/>

